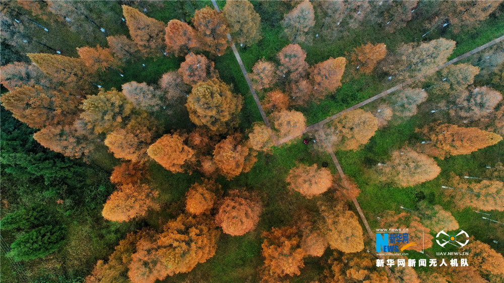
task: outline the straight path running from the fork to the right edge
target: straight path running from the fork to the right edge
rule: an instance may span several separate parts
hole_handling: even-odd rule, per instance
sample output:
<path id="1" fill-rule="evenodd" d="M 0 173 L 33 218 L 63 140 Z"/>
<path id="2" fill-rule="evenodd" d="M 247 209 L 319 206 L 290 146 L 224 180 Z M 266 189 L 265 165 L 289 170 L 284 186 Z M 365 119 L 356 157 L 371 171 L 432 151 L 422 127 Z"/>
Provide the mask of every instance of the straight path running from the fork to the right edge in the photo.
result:
<path id="1" fill-rule="evenodd" d="M 452 60 L 450 60 L 450 61 L 448 61 L 448 62 L 446 62 L 446 63 L 444 63 L 444 64 L 442 64 L 442 65 L 438 66 L 437 68 L 433 69 L 433 70 L 432 70 L 432 73 L 433 73 L 433 72 L 437 72 L 438 70 L 440 70 L 440 69 L 442 69 L 442 68 L 444 68 L 444 67 L 446 67 L 446 66 L 448 66 L 448 65 L 451 65 L 451 64 L 456 63 L 456 62 L 458 62 L 458 61 L 460 61 L 460 60 L 463 60 L 463 59 L 465 59 L 465 58 L 467 58 L 467 57 L 469 57 L 469 56 L 473 55 L 474 53 L 479 52 L 479 51 L 481 51 L 481 50 L 483 50 L 483 49 L 485 49 L 485 48 L 487 48 L 487 47 L 490 47 L 490 46 L 492 46 L 492 45 L 495 45 L 495 44 L 499 43 L 499 42 L 500 42 L 500 41 L 502 41 L 502 40 L 504 40 L 504 35 L 503 35 L 503 36 L 501 36 L 501 37 L 498 37 L 498 38 L 496 38 L 496 39 L 494 39 L 494 40 L 492 40 L 492 41 L 490 41 L 490 42 L 487 42 L 487 43 L 485 43 L 485 44 L 483 44 L 483 45 L 481 45 L 481 46 L 479 46 L 479 47 L 476 47 L 476 48 L 474 48 L 473 50 L 471 50 L 471 51 L 469 51 L 469 52 L 467 52 L 467 53 L 464 53 L 464 54 L 462 54 L 462 55 L 460 55 L 460 56 L 458 56 L 458 57 L 456 57 L 456 58 L 453 58 Z M 430 74 L 430 73 L 429 73 L 429 74 Z M 379 94 L 377 94 L 377 95 L 375 95 L 375 96 L 373 96 L 373 97 L 370 97 L 370 98 L 368 98 L 368 99 L 366 99 L 366 100 L 364 100 L 364 101 L 362 101 L 362 102 L 360 102 L 360 103 L 357 103 L 357 104 L 355 104 L 355 105 L 354 105 L 354 106 L 352 106 L 352 107 L 349 107 L 349 108 L 347 108 L 347 109 L 345 109 L 345 110 L 343 110 L 343 111 L 341 111 L 341 112 L 338 112 L 338 113 L 336 113 L 336 114 L 334 114 L 334 115 L 332 115 L 332 116 L 329 116 L 329 117 L 327 117 L 326 119 L 324 119 L 324 120 L 322 120 L 322 121 L 320 121 L 320 122 L 318 122 L 318 123 L 314 123 L 313 125 L 306 127 L 306 128 L 302 131 L 302 133 L 301 133 L 301 134 L 304 134 L 305 132 L 310 131 L 310 130 L 317 130 L 317 129 L 320 129 L 320 128 L 322 128 L 322 126 L 324 126 L 324 124 L 326 124 L 326 123 L 328 123 L 328 122 L 330 122 L 330 121 L 332 121 L 332 120 L 334 120 L 334 119 L 338 118 L 339 116 L 343 115 L 344 113 L 349 112 L 349 111 L 352 111 L 352 110 L 355 110 L 355 109 L 360 108 L 360 107 L 362 107 L 362 106 L 364 106 L 364 105 L 366 105 L 366 104 L 369 104 L 369 103 L 371 103 L 371 102 L 373 102 L 373 101 L 375 101 L 375 100 L 377 100 L 377 99 L 380 99 L 380 98 L 382 98 L 382 97 L 384 97 L 384 96 L 387 96 L 388 94 L 390 94 L 390 93 L 392 93 L 392 92 L 394 92 L 394 91 L 396 91 L 396 90 L 399 90 L 399 89 L 401 89 L 401 88 L 403 88 L 403 87 L 406 87 L 406 86 L 408 86 L 408 85 L 410 85 L 410 84 L 412 84 L 412 83 L 415 83 L 415 82 L 417 82 L 417 81 L 421 80 L 421 79 L 422 79 L 423 77 L 425 77 L 425 76 L 426 76 L 426 75 L 418 76 L 418 77 L 416 77 L 416 78 L 413 78 L 413 79 L 407 80 L 407 81 L 405 81 L 405 82 L 402 82 L 402 83 L 398 84 L 397 86 L 394 86 L 394 87 L 392 87 L 392 88 L 390 88 L 390 89 L 388 89 L 388 90 L 386 90 L 386 91 L 384 91 L 384 92 L 381 92 L 381 93 L 379 93 Z M 299 135 L 301 135 L 301 134 L 299 134 Z M 284 138 L 282 138 L 282 139 L 280 139 L 280 140 L 278 141 L 277 146 L 281 146 L 282 144 L 284 144 L 284 143 L 288 142 L 289 140 L 291 140 L 291 139 L 293 139 L 293 138 L 298 137 L 299 135 L 284 137 Z"/>

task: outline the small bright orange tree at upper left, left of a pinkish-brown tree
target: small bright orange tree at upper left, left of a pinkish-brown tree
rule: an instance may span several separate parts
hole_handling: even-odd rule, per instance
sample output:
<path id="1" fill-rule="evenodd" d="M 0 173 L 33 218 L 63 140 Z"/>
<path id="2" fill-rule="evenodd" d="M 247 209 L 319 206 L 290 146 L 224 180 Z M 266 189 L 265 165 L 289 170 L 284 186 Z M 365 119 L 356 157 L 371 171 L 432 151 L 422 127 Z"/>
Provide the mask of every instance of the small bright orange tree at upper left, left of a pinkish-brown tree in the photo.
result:
<path id="1" fill-rule="evenodd" d="M 119 60 L 112 56 L 109 48 L 100 47 L 78 47 L 77 53 L 86 66 L 93 72 L 105 72 L 108 68 L 119 66 Z"/>

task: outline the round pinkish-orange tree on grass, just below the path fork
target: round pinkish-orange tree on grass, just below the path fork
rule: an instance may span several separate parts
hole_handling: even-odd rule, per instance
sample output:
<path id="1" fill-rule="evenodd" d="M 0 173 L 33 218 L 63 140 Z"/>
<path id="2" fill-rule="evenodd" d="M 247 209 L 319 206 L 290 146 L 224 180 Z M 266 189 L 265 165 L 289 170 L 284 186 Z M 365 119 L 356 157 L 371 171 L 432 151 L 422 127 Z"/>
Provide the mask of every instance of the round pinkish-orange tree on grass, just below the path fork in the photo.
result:
<path id="1" fill-rule="evenodd" d="M 312 198 L 333 185 L 333 176 L 329 169 L 318 168 L 317 164 L 312 166 L 299 164 L 289 171 L 286 182 L 289 183 L 290 189 Z"/>

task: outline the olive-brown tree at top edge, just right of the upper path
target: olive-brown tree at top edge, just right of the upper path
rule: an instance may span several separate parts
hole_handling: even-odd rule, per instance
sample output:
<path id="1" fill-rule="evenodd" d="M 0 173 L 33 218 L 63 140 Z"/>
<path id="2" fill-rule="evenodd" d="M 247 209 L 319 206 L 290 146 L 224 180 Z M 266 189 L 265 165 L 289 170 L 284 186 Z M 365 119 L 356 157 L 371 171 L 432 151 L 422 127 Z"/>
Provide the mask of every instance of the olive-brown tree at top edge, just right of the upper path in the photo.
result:
<path id="1" fill-rule="evenodd" d="M 226 1 L 222 12 L 233 40 L 246 46 L 261 40 L 259 28 L 261 17 L 254 11 L 254 6 L 250 2 Z"/>

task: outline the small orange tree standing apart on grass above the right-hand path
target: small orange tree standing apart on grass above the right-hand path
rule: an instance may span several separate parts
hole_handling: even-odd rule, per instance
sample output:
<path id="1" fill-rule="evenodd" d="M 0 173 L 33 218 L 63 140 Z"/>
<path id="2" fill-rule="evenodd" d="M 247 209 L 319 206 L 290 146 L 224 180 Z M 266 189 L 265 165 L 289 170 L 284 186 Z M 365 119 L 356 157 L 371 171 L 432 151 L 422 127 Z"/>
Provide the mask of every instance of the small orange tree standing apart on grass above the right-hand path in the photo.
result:
<path id="1" fill-rule="evenodd" d="M 372 44 L 368 42 L 353 50 L 355 52 L 352 53 L 352 61 L 357 65 L 356 68 L 364 74 L 371 73 L 376 64 L 387 54 L 387 46 L 384 43 Z"/>

